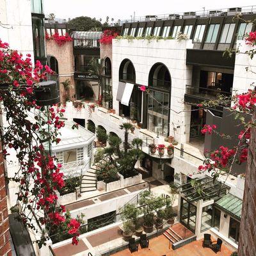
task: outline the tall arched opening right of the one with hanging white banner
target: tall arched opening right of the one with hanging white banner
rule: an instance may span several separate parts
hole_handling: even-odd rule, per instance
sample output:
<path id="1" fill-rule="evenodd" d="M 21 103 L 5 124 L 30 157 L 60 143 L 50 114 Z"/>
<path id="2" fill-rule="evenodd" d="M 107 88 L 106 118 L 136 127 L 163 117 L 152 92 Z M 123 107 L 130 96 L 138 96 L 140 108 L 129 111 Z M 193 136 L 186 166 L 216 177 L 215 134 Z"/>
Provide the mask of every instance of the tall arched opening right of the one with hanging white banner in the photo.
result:
<path id="1" fill-rule="evenodd" d="M 147 129 L 168 136 L 170 120 L 170 99 L 172 81 L 168 68 L 163 63 L 156 63 L 149 72 L 150 88 L 145 102 L 147 108 Z"/>

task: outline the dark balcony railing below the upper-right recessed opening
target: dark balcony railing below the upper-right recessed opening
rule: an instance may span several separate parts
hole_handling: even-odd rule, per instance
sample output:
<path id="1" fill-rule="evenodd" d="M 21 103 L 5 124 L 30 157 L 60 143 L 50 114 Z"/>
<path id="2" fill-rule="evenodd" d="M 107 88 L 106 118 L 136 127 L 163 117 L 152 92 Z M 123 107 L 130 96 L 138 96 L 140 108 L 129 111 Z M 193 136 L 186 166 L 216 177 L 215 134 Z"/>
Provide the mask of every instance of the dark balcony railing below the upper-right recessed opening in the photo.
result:
<path id="1" fill-rule="evenodd" d="M 224 97 L 231 97 L 232 93 L 223 92 L 221 90 L 214 90 L 204 87 L 186 85 L 186 94 L 196 97 L 202 97 L 204 99 L 217 99 L 220 95 Z"/>

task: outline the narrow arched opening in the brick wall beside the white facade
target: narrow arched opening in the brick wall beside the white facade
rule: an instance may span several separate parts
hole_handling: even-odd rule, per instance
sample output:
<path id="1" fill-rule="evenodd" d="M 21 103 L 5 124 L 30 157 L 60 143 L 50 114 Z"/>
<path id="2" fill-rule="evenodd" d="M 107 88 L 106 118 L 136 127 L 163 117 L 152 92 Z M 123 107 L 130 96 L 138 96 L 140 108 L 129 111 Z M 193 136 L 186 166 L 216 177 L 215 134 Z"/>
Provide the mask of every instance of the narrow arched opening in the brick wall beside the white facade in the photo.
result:
<path id="1" fill-rule="evenodd" d="M 102 75 L 102 106 L 107 109 L 113 108 L 111 60 L 104 60 L 104 74 Z"/>

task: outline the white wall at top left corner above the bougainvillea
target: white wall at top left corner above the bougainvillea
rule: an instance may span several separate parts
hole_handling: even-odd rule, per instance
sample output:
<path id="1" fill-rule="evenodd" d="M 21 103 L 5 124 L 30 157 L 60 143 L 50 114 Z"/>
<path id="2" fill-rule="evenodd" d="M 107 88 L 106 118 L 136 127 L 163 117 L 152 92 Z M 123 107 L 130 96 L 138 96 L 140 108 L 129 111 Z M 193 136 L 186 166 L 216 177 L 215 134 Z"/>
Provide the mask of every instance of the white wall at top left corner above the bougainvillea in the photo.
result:
<path id="1" fill-rule="evenodd" d="M 25 57 L 30 53 L 33 61 L 31 0 L 1 0 L 0 20 L 0 39 Z"/>

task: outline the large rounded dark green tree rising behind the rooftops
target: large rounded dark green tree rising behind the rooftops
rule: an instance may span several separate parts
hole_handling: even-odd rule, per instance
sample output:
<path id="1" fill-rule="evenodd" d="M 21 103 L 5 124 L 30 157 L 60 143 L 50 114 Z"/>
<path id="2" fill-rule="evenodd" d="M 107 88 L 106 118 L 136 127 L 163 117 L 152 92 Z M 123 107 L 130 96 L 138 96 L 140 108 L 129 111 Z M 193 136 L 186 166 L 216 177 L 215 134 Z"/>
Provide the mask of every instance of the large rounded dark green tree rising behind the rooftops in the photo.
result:
<path id="1" fill-rule="evenodd" d="M 76 17 L 68 21 L 68 24 L 71 25 L 76 31 L 90 31 L 92 29 L 97 30 L 102 28 L 102 24 L 99 20 L 95 18 L 90 18 L 86 16 Z M 97 29 L 95 29 L 97 28 Z"/>

